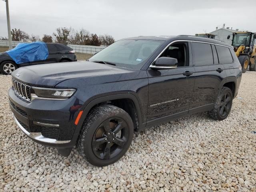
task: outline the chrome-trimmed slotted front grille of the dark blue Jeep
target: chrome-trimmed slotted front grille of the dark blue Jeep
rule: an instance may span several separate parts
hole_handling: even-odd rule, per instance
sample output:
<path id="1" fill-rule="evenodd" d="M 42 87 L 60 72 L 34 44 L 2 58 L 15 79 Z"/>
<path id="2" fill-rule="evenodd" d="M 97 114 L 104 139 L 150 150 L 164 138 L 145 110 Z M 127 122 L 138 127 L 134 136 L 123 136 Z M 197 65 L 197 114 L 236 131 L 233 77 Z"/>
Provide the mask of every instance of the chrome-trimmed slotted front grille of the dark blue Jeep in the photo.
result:
<path id="1" fill-rule="evenodd" d="M 31 101 L 30 86 L 22 82 L 19 82 L 14 78 L 12 78 L 12 86 L 16 94 L 18 94 L 18 96 L 21 96 L 27 101 Z"/>

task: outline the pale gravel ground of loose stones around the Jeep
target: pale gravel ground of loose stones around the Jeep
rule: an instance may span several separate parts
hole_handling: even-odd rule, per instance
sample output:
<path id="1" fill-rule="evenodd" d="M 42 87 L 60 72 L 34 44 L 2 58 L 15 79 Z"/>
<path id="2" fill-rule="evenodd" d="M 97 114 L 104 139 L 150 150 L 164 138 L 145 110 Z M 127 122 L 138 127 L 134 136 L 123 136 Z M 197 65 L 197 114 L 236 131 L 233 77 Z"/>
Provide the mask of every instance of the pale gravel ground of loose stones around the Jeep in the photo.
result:
<path id="1" fill-rule="evenodd" d="M 0 82 L 0 191 L 256 191 L 256 72 L 243 74 L 226 120 L 201 113 L 136 133 L 103 168 L 26 138 L 8 106 L 10 76 Z"/>

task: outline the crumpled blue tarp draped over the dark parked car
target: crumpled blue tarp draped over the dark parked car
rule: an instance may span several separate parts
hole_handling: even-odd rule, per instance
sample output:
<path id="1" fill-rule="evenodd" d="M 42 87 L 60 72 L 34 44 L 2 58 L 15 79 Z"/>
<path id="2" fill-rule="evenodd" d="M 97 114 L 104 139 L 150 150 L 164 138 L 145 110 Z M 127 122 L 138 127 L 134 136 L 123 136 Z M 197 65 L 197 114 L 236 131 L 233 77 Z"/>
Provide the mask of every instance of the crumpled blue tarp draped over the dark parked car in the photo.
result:
<path id="1" fill-rule="evenodd" d="M 46 60 L 48 57 L 48 49 L 44 42 L 19 43 L 15 48 L 6 52 L 16 64 Z"/>

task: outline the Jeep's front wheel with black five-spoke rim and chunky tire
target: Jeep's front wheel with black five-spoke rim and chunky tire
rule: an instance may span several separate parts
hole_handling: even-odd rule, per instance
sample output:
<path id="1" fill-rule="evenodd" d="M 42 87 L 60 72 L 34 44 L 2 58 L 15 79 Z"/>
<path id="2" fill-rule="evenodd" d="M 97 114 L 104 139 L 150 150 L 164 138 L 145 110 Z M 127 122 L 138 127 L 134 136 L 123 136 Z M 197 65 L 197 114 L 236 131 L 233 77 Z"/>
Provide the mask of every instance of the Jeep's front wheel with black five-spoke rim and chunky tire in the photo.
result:
<path id="1" fill-rule="evenodd" d="M 118 161 L 132 142 L 132 118 L 113 105 L 94 108 L 82 126 L 76 143 L 78 153 L 94 166 Z"/>

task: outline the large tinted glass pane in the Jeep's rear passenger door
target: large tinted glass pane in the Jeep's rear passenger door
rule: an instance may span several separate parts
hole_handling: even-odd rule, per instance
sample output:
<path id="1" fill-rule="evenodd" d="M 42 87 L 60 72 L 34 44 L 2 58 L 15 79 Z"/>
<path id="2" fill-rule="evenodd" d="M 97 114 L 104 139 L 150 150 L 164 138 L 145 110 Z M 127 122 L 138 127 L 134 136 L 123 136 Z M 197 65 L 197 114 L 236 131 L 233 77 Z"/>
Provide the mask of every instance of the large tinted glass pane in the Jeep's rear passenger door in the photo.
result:
<path id="1" fill-rule="evenodd" d="M 211 44 L 191 42 L 194 65 L 204 66 L 213 64 Z"/>

